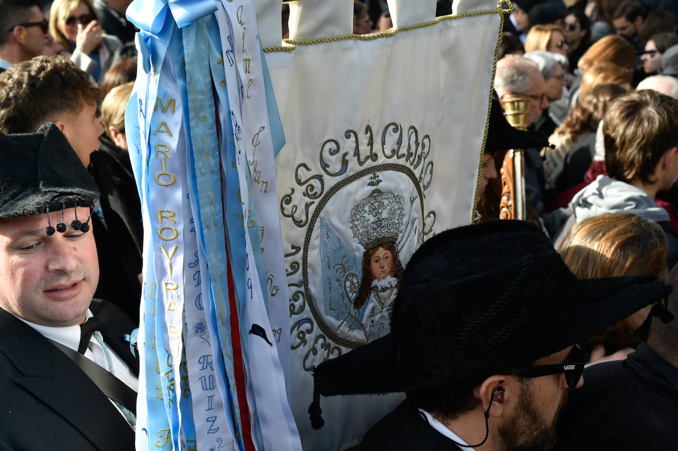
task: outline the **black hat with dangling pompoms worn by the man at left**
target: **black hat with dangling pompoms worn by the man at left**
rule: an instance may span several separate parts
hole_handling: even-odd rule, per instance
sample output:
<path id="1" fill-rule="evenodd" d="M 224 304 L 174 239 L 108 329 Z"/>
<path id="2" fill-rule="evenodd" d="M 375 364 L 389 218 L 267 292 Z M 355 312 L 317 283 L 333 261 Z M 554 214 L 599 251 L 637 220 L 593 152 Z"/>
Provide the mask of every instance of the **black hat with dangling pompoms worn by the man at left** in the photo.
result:
<path id="1" fill-rule="evenodd" d="M 37 133 L 0 134 L 0 220 L 80 207 L 99 197 L 71 144 L 53 123 Z"/>

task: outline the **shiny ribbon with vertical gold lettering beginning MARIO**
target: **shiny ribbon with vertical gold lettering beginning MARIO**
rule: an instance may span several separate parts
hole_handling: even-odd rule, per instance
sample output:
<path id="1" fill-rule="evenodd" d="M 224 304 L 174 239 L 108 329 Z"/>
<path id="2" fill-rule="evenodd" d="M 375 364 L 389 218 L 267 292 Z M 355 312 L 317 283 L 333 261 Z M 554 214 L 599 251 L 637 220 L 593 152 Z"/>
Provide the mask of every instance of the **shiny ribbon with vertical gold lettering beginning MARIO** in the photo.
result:
<path id="1" fill-rule="evenodd" d="M 184 423 L 189 431 L 193 430 L 193 421 L 185 421 L 184 412 L 190 406 L 182 396 L 181 363 L 184 354 L 182 331 L 184 321 L 184 223 L 182 205 L 182 179 L 185 178 L 180 157 L 177 153 L 182 128 L 182 111 L 176 109 L 178 88 L 172 74 L 171 53 L 161 65 L 158 75 L 157 97 L 153 106 L 149 99 L 146 104 L 146 117 L 151 120 L 148 129 L 149 155 L 148 165 L 148 208 L 151 229 L 148 230 L 153 242 L 153 267 L 155 281 L 158 284 L 160 302 L 156 317 L 161 319 L 156 328 L 156 346 L 159 353 L 161 381 L 164 388 L 165 406 L 172 424 L 172 439 L 178 446 L 178 439 L 186 443 L 193 439 L 193 432 L 186 434 Z M 152 109 L 152 112 L 151 112 Z M 159 334 L 158 332 L 162 333 Z M 159 338 L 162 337 L 162 340 Z M 162 350 L 169 351 L 165 361 L 161 359 Z M 185 383 L 185 381 L 184 381 Z M 174 410 L 176 415 L 170 413 Z"/>

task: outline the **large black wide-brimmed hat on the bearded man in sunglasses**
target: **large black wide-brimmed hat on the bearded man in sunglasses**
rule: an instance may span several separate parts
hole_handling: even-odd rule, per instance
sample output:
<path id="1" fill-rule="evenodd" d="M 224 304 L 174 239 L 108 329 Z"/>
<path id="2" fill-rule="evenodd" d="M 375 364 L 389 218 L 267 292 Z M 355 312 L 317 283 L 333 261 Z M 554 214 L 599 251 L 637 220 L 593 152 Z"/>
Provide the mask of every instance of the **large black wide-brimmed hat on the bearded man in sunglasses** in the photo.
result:
<path id="1" fill-rule="evenodd" d="M 578 280 L 530 222 L 439 233 L 407 263 L 391 333 L 315 368 L 311 425 L 323 425 L 320 395 L 481 383 L 589 338 L 670 292 L 652 274 Z"/>

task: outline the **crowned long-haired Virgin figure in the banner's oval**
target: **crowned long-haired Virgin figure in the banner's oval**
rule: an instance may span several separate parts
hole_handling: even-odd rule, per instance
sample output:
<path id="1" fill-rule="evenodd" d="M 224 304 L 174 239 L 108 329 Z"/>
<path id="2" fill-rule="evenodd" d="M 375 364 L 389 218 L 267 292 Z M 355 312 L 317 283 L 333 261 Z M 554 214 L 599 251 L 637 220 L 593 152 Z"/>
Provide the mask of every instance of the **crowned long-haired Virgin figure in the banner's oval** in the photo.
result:
<path id="1" fill-rule="evenodd" d="M 351 304 L 362 311 L 368 342 L 391 330 L 393 300 L 403 273 L 397 241 L 404 217 L 403 197 L 378 189 L 351 210 L 353 236 L 365 249 L 360 285 Z"/>

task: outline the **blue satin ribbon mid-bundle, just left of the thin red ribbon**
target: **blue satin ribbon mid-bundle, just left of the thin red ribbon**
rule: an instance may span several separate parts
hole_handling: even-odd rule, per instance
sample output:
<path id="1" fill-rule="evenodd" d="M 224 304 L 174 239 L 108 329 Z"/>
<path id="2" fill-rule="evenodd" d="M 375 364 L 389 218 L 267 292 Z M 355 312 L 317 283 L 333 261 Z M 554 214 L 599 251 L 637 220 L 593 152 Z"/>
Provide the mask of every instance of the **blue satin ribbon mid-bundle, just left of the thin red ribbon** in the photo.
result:
<path id="1" fill-rule="evenodd" d="M 214 114 L 214 97 L 212 96 L 212 74 L 208 52 L 220 52 L 221 45 L 214 48 L 208 45 L 203 33 L 214 28 L 215 19 L 205 18 L 197 24 L 188 25 L 182 30 L 184 41 L 184 59 L 186 61 L 186 93 L 190 117 L 190 136 L 188 136 L 191 153 L 191 173 L 189 174 L 193 190 L 198 195 L 191 197 L 201 212 L 194 217 L 199 232 L 200 245 L 207 257 L 209 275 L 203 280 L 210 282 L 210 323 L 214 336 L 219 338 L 220 350 L 227 358 L 214 359 L 215 370 L 222 376 L 228 390 L 223 393 L 224 406 L 230 408 L 226 412 L 228 427 L 237 437 L 239 450 L 244 450 L 242 442 L 242 426 L 239 414 L 239 402 L 235 387 L 235 370 L 233 368 L 233 345 L 231 342 L 231 307 L 228 302 L 228 275 L 226 268 L 226 240 L 224 237 L 224 218 L 221 198 L 220 152 L 217 142 L 216 116 Z M 182 79 L 177 79 L 181 85 Z M 218 83 L 214 83 L 218 84 Z M 204 88 L 205 97 L 201 94 Z M 210 169 L 212 171 L 210 171 Z M 210 196 L 210 192 L 212 195 Z M 208 245 L 208 243 L 210 243 Z M 219 313 L 217 317 L 217 312 Z M 237 315 L 237 313 L 233 313 Z M 216 328 L 214 328 L 216 326 Z"/>

